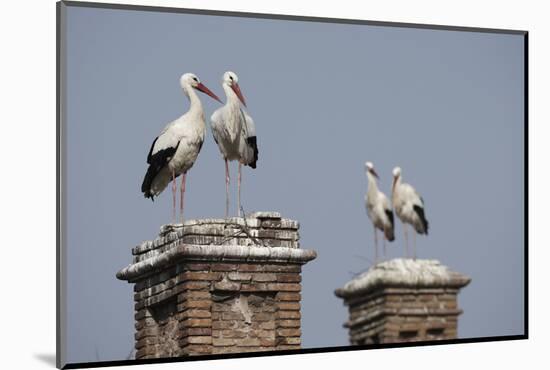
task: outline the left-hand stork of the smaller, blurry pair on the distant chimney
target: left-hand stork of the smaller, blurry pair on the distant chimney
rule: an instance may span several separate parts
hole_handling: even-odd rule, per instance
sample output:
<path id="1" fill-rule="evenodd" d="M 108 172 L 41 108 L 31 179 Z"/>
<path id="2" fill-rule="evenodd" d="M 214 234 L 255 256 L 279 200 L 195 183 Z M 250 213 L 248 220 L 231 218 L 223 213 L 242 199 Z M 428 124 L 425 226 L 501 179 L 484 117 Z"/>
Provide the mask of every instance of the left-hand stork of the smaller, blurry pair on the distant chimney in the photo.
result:
<path id="1" fill-rule="evenodd" d="M 378 174 L 372 162 L 365 163 L 365 171 L 369 183 L 367 194 L 365 194 L 365 208 L 374 229 L 374 260 L 377 262 L 378 229 L 384 232 L 384 256 L 386 255 L 386 239 L 390 242 L 395 239 L 393 234 L 393 211 L 386 195 L 378 190 L 378 184 L 376 183 Z"/>

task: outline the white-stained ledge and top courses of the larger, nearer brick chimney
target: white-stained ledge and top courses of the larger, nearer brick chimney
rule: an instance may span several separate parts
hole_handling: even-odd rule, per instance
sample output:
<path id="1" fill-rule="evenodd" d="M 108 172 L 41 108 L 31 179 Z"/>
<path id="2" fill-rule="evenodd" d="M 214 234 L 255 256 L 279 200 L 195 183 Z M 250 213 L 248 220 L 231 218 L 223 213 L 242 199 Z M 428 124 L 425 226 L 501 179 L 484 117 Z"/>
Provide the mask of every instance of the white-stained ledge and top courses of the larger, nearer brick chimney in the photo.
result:
<path id="1" fill-rule="evenodd" d="M 317 253 L 299 248 L 299 227 L 297 221 L 282 218 L 278 212 L 162 225 L 155 240 L 132 248 L 133 263 L 116 276 L 133 282 L 189 261 L 305 264 Z"/>

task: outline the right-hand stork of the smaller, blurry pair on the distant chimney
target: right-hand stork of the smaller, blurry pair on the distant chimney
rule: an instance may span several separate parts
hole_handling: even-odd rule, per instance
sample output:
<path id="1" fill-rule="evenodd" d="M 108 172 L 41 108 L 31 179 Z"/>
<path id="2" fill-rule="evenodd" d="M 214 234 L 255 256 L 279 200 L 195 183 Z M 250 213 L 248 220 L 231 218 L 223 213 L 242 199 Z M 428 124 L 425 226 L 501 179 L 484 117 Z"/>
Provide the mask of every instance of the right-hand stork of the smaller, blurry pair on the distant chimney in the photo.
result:
<path id="1" fill-rule="evenodd" d="M 407 235 L 407 224 L 411 224 L 419 234 L 428 235 L 428 220 L 424 213 L 424 200 L 418 192 L 409 184 L 403 183 L 401 178 L 401 168 L 393 169 L 392 202 L 397 217 L 403 223 L 403 232 L 405 233 L 406 254 L 409 254 L 409 241 Z M 414 254 L 416 259 L 416 233 L 414 237 Z"/>

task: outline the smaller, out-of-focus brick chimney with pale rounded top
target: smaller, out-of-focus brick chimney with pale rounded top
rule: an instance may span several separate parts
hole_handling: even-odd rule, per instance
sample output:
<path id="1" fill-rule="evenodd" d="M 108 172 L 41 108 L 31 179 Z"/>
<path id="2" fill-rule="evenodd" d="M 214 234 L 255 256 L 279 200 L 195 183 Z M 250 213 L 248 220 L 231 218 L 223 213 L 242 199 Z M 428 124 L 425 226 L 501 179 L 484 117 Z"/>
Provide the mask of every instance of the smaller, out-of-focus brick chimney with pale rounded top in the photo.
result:
<path id="1" fill-rule="evenodd" d="M 470 278 L 436 260 L 381 262 L 337 289 L 352 345 L 457 337 L 457 295 Z"/>

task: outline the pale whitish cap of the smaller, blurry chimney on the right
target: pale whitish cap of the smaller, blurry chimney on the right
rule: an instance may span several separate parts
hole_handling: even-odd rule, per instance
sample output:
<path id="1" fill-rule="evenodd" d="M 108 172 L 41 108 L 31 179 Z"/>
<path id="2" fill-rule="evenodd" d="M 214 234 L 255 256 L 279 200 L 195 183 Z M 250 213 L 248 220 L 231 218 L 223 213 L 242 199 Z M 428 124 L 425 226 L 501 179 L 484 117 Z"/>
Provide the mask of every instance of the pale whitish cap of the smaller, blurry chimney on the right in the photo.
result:
<path id="1" fill-rule="evenodd" d="M 462 288 L 470 278 L 451 271 L 437 260 L 397 258 L 378 263 L 336 289 L 341 298 L 369 294 L 377 288 Z"/>

